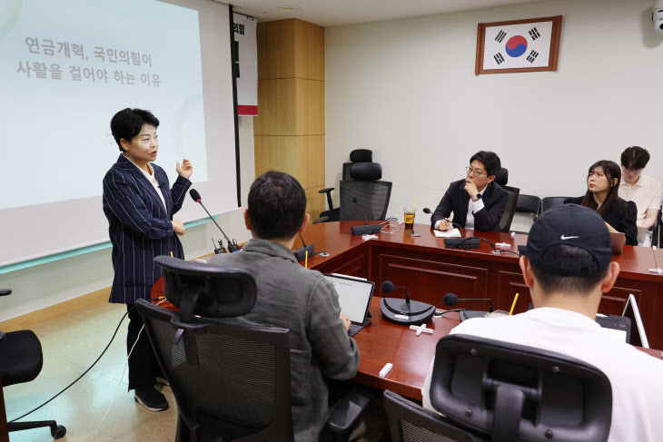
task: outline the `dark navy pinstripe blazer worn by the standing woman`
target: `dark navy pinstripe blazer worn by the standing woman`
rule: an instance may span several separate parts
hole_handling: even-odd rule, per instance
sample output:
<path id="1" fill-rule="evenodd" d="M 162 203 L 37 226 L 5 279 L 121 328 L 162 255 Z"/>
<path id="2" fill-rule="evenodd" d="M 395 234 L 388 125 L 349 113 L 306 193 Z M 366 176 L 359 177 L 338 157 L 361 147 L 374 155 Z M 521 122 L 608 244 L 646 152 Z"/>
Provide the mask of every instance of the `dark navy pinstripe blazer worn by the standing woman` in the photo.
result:
<path id="1" fill-rule="evenodd" d="M 168 177 L 154 163 L 163 200 L 143 172 L 124 155 L 104 176 L 104 214 L 113 244 L 113 288 L 110 302 L 133 304 L 149 299 L 155 280 L 163 275 L 154 257 L 183 258 L 182 243 L 173 232 L 173 213 L 180 210 L 191 182 L 181 176 L 169 189 Z"/>

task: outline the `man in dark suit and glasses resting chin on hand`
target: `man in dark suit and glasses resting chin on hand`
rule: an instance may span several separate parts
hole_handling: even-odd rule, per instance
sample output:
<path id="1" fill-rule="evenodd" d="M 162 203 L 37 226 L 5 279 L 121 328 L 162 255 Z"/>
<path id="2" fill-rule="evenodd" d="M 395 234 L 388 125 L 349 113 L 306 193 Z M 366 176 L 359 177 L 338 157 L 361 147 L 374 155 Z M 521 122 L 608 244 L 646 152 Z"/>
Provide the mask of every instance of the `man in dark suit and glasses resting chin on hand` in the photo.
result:
<path id="1" fill-rule="evenodd" d="M 500 219 L 509 199 L 509 193 L 493 182 L 500 169 L 500 157 L 495 152 L 472 155 L 467 177 L 451 182 L 430 218 L 432 228 L 451 229 L 449 216 L 453 212 L 453 222 L 464 229 L 500 231 Z"/>

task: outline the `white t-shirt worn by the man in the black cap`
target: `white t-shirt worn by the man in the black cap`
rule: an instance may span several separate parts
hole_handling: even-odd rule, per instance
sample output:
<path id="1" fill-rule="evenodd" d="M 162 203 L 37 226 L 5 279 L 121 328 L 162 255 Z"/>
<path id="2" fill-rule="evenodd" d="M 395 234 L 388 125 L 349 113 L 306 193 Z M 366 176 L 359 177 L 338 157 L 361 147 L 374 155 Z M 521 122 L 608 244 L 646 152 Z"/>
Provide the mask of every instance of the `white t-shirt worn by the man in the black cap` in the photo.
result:
<path id="1" fill-rule="evenodd" d="M 602 331 L 587 316 L 566 309 L 531 309 L 520 315 L 468 319 L 451 333 L 555 351 L 599 368 L 612 387 L 609 442 L 663 440 L 663 361 Z M 434 356 L 433 356 L 434 359 Z M 430 377 L 421 388 L 430 405 Z"/>

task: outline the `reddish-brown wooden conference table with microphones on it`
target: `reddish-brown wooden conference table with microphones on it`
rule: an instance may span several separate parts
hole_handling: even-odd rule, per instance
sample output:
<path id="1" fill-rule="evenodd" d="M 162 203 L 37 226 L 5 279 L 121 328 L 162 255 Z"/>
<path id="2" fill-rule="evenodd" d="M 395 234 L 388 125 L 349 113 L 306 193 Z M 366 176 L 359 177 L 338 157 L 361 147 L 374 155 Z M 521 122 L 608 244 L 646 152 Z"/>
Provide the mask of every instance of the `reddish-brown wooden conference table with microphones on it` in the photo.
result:
<path id="1" fill-rule="evenodd" d="M 373 221 L 374 223 L 375 221 Z M 375 388 L 391 389 L 402 396 L 421 400 L 421 387 L 426 378 L 430 361 L 435 354 L 438 340 L 460 323 L 459 314 L 448 313 L 432 319 L 427 327 L 432 335 L 417 336 L 409 327 L 393 324 L 381 318 L 381 283 L 391 280 L 396 286 L 405 286 L 412 300 L 421 300 L 438 309 L 449 309 L 442 302 L 448 293 L 459 298 L 490 298 L 495 309 L 509 310 L 519 297 L 514 313 L 529 309 L 529 290 L 522 279 L 514 253 L 493 253 L 490 244 L 481 241 L 478 249 L 447 249 L 441 238 L 436 238 L 428 224 L 415 224 L 421 237 L 408 236 L 400 226 L 393 233 L 381 232 L 377 239 L 364 241 L 359 235 L 351 235 L 351 226 L 363 221 L 339 221 L 313 224 L 303 233 L 304 240 L 315 244 L 316 252 L 324 250 L 329 256 L 315 255 L 308 260 L 308 267 L 323 273 L 341 273 L 366 278 L 375 282 L 371 301 L 371 324 L 354 336 L 360 349 L 361 362 L 357 382 Z M 394 226 L 398 224 L 391 223 Z M 507 243 L 517 252 L 519 245 L 527 243 L 527 235 L 510 237 L 508 233 L 466 231 L 467 236 L 479 236 L 493 244 Z M 663 276 L 649 272 L 656 262 L 663 267 L 663 253 L 649 248 L 626 246 L 613 260 L 619 263 L 621 272 L 615 288 L 604 293 L 599 306 L 602 313 L 620 315 L 628 294 L 638 300 L 645 329 L 652 349 L 641 349 L 661 359 L 663 328 L 658 314 L 663 313 Z M 303 265 L 304 262 L 302 261 Z M 404 298 L 404 292 L 395 290 L 391 298 Z M 488 302 L 462 302 L 456 308 L 488 309 Z M 391 362 L 393 368 L 385 378 L 380 370 Z"/>

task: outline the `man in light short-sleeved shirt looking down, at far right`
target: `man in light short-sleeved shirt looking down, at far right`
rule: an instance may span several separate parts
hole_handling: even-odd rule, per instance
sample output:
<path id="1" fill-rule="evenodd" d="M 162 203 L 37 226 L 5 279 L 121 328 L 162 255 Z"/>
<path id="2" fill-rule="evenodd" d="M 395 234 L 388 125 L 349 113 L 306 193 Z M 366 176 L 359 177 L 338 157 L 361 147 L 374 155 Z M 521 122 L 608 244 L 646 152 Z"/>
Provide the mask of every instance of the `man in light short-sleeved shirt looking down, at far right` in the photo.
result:
<path id="1" fill-rule="evenodd" d="M 618 195 L 622 200 L 633 201 L 638 207 L 638 245 L 651 245 L 651 232 L 658 217 L 661 203 L 660 182 L 642 173 L 649 162 L 649 152 L 639 146 L 621 152 L 623 180 Z"/>

